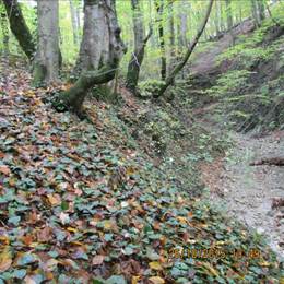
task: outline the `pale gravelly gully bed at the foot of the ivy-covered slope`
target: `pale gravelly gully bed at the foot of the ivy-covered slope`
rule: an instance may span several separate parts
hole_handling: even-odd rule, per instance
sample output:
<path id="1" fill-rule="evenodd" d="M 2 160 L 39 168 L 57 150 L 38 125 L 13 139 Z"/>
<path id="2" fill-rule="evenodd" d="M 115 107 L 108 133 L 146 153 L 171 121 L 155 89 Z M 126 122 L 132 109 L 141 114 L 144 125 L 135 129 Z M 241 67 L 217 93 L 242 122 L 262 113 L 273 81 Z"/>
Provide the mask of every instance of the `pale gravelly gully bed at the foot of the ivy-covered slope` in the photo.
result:
<path id="1" fill-rule="evenodd" d="M 284 133 L 264 138 L 233 133 L 236 146 L 225 158 L 203 170 L 203 179 L 211 189 L 212 201 L 248 227 L 263 234 L 271 248 L 284 259 L 284 206 L 273 208 L 284 200 L 284 167 L 249 166 L 262 157 L 284 154 Z M 222 170 L 221 170 L 222 168 Z M 218 170 L 217 170 L 218 169 Z"/>

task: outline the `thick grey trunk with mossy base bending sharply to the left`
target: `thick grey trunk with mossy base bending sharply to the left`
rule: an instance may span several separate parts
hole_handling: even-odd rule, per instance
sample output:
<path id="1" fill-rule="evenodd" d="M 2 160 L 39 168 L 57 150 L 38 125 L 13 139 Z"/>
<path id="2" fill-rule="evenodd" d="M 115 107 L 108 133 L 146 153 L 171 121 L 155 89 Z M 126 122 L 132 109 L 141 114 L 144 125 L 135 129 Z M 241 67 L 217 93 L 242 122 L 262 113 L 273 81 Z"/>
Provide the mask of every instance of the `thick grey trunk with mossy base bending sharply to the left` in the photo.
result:
<path id="1" fill-rule="evenodd" d="M 115 78 L 119 61 L 126 52 L 115 9 L 115 0 L 84 1 L 80 54 L 83 71 L 75 84 L 54 103 L 58 110 L 71 109 L 81 116 L 87 91 L 95 84 L 104 84 Z"/>

